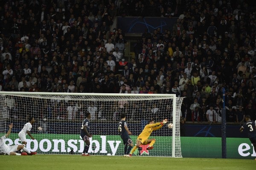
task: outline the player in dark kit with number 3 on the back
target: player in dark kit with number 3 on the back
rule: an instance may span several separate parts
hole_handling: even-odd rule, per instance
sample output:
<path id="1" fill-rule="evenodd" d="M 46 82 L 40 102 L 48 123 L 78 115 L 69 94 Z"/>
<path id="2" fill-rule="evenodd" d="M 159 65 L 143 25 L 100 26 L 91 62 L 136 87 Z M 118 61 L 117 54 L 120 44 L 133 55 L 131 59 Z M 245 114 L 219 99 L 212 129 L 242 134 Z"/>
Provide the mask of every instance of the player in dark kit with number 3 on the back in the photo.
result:
<path id="1" fill-rule="evenodd" d="M 245 116 L 245 123 L 244 125 L 240 128 L 240 132 L 243 132 L 243 130 L 246 130 L 248 133 L 248 138 L 253 144 L 254 151 L 256 152 L 256 125 L 255 122 L 250 120 L 250 115 Z M 256 158 L 255 158 L 256 161 Z"/>

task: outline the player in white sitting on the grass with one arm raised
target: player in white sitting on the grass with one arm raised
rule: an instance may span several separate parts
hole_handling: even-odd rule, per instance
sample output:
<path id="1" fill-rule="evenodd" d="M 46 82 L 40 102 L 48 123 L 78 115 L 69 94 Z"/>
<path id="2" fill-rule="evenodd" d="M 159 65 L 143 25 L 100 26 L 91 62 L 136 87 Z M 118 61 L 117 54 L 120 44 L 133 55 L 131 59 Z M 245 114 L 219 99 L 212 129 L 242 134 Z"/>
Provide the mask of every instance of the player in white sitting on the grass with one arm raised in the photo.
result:
<path id="1" fill-rule="evenodd" d="M 1 138 L 0 138 L 0 153 L 1 155 L 17 155 L 17 156 L 20 156 L 20 155 L 35 155 L 36 152 L 30 152 L 24 145 L 22 144 L 19 144 L 19 145 L 13 145 L 13 146 L 9 146 L 5 143 L 5 139 L 10 135 L 11 131 L 12 131 L 12 127 L 13 127 L 13 124 L 9 124 L 9 130 L 8 132 L 6 133 L 6 135 L 3 135 Z M 23 149 L 25 152 L 23 153 L 15 153 L 16 151 L 18 150 L 21 150 Z M 27 154 L 28 153 L 28 154 Z"/>

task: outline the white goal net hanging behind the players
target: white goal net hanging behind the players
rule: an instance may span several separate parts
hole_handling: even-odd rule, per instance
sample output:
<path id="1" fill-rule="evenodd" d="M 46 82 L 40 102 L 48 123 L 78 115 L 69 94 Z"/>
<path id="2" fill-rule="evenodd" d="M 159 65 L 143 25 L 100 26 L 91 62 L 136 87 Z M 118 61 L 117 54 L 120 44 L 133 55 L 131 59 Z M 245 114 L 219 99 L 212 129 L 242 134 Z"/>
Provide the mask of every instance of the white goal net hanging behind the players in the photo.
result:
<path id="1" fill-rule="evenodd" d="M 172 94 L 100 94 L 100 93 L 45 93 L 1 92 L 0 133 L 6 133 L 13 123 L 12 134 L 6 144 L 19 144 L 18 134 L 28 118 L 35 123 L 26 136 L 26 147 L 40 154 L 81 154 L 84 141 L 80 137 L 85 113 L 90 112 L 91 155 L 124 155 L 124 145 L 118 135 L 120 114 L 126 114 L 131 139 L 136 143 L 148 120 L 160 122 L 167 118 L 173 124 L 151 133 L 156 138 L 153 150 L 141 146 L 142 156 L 182 157 L 180 148 L 180 107 L 183 98 Z M 71 151 L 71 152 L 70 152 Z M 73 152 L 72 152 L 73 151 Z"/>

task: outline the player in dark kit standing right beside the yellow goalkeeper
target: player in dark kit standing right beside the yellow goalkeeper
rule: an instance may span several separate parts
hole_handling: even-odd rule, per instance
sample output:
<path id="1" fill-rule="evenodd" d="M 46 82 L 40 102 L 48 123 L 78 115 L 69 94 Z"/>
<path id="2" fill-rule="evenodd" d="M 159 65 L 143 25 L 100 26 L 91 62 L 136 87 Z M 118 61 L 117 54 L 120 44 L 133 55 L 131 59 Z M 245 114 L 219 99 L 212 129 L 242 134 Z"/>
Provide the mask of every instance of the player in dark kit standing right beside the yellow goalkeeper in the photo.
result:
<path id="1" fill-rule="evenodd" d="M 129 131 L 129 129 L 127 127 L 127 121 L 125 121 L 125 118 L 126 118 L 125 114 L 122 113 L 120 117 L 121 117 L 121 121 L 119 122 L 118 133 L 120 134 L 120 136 L 124 142 L 124 145 L 125 145 L 124 156 L 130 157 L 129 153 L 131 151 L 131 148 L 133 147 L 132 140 L 129 136 L 129 135 L 131 135 L 131 132 Z"/>

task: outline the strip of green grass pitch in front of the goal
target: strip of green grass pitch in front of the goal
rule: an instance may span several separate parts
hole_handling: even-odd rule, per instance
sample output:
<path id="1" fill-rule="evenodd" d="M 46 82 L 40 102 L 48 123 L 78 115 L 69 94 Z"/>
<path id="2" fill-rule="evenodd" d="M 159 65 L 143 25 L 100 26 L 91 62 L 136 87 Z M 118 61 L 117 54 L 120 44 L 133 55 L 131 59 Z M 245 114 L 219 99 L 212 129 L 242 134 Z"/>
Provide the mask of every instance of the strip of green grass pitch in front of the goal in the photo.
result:
<path id="1" fill-rule="evenodd" d="M 146 156 L 0 156 L 0 170 L 253 170 L 251 159 Z"/>

